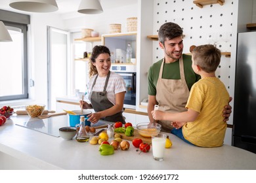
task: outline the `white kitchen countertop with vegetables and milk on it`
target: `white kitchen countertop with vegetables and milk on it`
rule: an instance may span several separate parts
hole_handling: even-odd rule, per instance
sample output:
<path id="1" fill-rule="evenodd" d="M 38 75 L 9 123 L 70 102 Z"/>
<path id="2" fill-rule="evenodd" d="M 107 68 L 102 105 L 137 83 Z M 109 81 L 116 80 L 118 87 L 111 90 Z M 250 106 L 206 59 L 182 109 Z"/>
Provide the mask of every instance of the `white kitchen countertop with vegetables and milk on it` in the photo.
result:
<path id="1" fill-rule="evenodd" d="M 65 116 L 62 123 L 68 125 Z M 51 118 L 58 123 L 60 116 Z M 33 120 L 37 122 L 37 118 Z M 101 156 L 99 145 L 66 141 L 16 125 L 27 122 L 32 118 L 15 114 L 0 126 L 0 169 L 256 169 L 256 154 L 252 152 L 228 145 L 200 148 L 172 134 L 169 137 L 173 146 L 165 149 L 163 161 L 155 161 L 152 150 L 139 154 L 131 142 L 127 151 Z"/>

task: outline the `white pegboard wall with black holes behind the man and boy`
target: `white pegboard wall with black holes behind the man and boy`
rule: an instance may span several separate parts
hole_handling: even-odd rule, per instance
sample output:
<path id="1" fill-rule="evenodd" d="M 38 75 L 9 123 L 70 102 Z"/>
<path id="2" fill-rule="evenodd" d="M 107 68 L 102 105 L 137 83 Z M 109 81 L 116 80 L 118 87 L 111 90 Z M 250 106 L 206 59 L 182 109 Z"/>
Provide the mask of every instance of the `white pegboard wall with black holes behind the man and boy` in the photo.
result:
<path id="1" fill-rule="evenodd" d="M 189 53 L 191 45 L 216 44 L 221 52 L 231 52 L 233 0 L 226 0 L 224 5 L 205 5 L 197 7 L 193 0 L 155 0 L 153 35 L 165 22 L 179 24 L 185 35 L 183 53 Z M 158 41 L 153 42 L 153 62 L 163 58 L 163 50 Z M 221 57 L 216 71 L 227 90 L 230 79 L 230 58 Z"/>

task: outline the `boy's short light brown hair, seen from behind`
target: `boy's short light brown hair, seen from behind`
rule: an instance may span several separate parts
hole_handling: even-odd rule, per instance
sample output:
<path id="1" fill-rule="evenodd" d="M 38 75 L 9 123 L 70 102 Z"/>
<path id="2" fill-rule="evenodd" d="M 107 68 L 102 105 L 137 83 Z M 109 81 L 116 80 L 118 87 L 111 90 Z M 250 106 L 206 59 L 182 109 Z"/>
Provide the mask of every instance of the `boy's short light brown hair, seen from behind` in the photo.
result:
<path id="1" fill-rule="evenodd" d="M 200 66 L 203 71 L 213 73 L 221 62 L 221 50 L 213 44 L 196 46 L 192 50 L 192 58 L 194 59 L 194 64 Z"/>

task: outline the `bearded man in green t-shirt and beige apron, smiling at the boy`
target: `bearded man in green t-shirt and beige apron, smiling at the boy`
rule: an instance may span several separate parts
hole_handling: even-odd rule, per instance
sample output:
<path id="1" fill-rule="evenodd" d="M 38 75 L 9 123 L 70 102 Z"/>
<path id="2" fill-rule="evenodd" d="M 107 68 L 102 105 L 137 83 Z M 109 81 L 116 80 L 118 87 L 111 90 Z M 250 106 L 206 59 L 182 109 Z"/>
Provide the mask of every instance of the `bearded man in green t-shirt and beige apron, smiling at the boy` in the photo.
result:
<path id="1" fill-rule="evenodd" d="M 200 76 L 192 69 L 191 56 L 182 54 L 182 29 L 178 24 L 167 22 L 158 31 L 159 46 L 164 58 L 154 63 L 148 71 L 148 117 L 154 122 L 151 111 L 154 105 L 165 112 L 183 112 L 192 85 Z M 232 98 L 230 98 L 231 100 Z M 231 113 L 228 105 L 223 110 L 224 121 Z M 173 126 L 170 121 L 158 121 L 161 131 L 170 133 Z"/>

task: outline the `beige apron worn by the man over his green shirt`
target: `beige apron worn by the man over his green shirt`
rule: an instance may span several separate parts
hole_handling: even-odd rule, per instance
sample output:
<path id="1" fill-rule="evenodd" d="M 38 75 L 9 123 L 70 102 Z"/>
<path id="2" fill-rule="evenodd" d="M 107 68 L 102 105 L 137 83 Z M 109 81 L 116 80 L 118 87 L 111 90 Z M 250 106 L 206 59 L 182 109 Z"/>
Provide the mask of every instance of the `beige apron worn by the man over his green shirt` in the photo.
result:
<path id="1" fill-rule="evenodd" d="M 181 73 L 180 80 L 163 79 L 163 65 L 165 60 L 161 63 L 158 82 L 156 84 L 156 101 L 159 105 L 159 110 L 165 112 L 183 112 L 186 111 L 186 102 L 189 96 L 188 86 L 186 85 L 184 66 L 182 56 L 179 59 L 179 67 Z M 171 133 L 173 126 L 170 121 L 158 121 L 161 124 L 161 131 Z"/>

